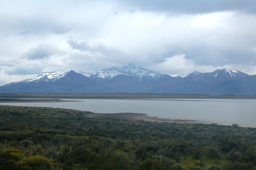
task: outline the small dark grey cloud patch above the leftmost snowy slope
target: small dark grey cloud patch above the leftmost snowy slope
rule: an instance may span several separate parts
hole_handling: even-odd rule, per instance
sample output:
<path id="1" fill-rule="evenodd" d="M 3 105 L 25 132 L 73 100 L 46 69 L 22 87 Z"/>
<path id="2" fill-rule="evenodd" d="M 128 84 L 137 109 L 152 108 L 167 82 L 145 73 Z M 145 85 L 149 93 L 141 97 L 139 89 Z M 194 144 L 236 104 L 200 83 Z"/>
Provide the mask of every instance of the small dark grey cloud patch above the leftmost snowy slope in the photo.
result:
<path id="1" fill-rule="evenodd" d="M 23 56 L 27 59 L 44 59 L 46 57 L 49 57 L 50 55 L 53 55 L 58 50 L 50 45 L 38 45 L 36 47 L 33 47 L 28 52 L 24 53 Z"/>

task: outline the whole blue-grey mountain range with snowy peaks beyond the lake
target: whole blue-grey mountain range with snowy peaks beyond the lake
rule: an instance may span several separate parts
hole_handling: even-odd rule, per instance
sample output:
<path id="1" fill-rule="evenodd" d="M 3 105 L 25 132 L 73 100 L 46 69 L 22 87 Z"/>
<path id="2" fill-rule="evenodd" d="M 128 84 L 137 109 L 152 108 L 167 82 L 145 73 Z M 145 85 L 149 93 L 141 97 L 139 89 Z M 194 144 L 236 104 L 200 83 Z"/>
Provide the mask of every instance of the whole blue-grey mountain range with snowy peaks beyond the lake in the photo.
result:
<path id="1" fill-rule="evenodd" d="M 133 64 L 96 73 L 47 72 L 0 86 L 0 93 L 185 93 L 256 95 L 256 75 L 238 70 L 194 71 L 176 77 Z"/>

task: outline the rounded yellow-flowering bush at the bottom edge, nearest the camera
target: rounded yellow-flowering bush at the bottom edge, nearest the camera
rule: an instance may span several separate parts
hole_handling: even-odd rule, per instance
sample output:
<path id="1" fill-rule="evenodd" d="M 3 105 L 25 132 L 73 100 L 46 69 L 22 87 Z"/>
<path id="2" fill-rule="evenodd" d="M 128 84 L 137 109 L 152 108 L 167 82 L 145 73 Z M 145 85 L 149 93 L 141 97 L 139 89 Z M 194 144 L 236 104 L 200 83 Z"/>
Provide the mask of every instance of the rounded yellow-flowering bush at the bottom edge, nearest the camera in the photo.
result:
<path id="1" fill-rule="evenodd" d="M 40 169 L 50 169 L 52 167 L 52 162 L 41 155 L 30 156 L 29 158 L 25 158 L 17 162 L 17 166 L 28 167 L 28 168 L 40 168 Z"/>

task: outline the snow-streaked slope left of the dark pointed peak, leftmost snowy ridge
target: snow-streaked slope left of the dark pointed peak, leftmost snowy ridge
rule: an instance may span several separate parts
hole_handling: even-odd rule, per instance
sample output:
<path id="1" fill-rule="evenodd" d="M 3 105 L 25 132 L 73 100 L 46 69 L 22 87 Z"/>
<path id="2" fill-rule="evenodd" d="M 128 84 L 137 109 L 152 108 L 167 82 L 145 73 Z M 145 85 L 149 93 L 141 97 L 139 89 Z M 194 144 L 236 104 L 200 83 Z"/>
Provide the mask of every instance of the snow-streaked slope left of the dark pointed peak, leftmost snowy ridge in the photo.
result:
<path id="1" fill-rule="evenodd" d="M 64 77 L 67 75 L 69 71 L 60 72 L 60 71 L 54 71 L 54 72 L 45 72 L 40 73 L 35 77 L 32 77 L 30 79 L 25 79 L 19 82 L 29 83 L 29 82 L 39 82 L 39 81 L 56 81 L 60 79 L 61 77 Z M 18 82 L 16 82 L 18 83 Z"/>

